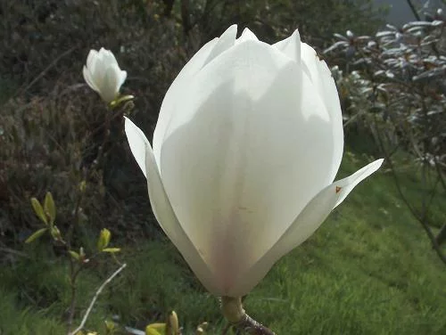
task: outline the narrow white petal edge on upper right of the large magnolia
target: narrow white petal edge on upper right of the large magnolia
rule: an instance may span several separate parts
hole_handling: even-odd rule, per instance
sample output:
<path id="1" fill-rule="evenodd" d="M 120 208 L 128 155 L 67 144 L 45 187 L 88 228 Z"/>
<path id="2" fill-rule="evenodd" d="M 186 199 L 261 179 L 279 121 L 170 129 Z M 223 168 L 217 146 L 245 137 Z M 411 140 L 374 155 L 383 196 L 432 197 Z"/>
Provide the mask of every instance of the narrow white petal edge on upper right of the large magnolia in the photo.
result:
<path id="1" fill-rule="evenodd" d="M 326 110 L 328 110 L 332 119 L 335 139 L 334 162 L 331 172 L 331 181 L 333 181 L 343 159 L 343 112 L 339 102 L 335 79 L 332 77 L 330 69 L 326 66 L 326 62 L 319 60 L 314 49 L 305 43 L 301 44 L 301 61 L 303 69 L 316 87 L 318 95 L 325 103 Z"/>

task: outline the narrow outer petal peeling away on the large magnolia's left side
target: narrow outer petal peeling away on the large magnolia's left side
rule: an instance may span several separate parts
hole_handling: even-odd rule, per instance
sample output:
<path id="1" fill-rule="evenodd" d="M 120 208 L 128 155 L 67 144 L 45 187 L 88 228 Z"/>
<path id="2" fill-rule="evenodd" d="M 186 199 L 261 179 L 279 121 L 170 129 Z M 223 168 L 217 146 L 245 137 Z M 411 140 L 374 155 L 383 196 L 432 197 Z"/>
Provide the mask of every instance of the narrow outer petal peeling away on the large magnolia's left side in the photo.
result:
<path id="1" fill-rule="evenodd" d="M 139 167 L 142 167 L 143 161 L 145 161 L 143 172 L 145 172 L 145 176 L 148 176 L 147 188 L 150 202 L 153 214 L 162 230 L 169 236 L 170 241 L 175 244 L 181 255 L 185 257 L 187 264 L 191 266 L 194 274 L 204 287 L 215 295 L 221 295 L 222 292 L 216 287 L 213 275 L 203 262 L 198 250 L 195 249 L 194 244 L 187 237 L 182 226 L 178 223 L 178 219 L 170 206 L 149 141 L 147 141 L 141 129 L 136 127 L 128 118 L 126 118 L 125 129 L 130 149 Z"/>

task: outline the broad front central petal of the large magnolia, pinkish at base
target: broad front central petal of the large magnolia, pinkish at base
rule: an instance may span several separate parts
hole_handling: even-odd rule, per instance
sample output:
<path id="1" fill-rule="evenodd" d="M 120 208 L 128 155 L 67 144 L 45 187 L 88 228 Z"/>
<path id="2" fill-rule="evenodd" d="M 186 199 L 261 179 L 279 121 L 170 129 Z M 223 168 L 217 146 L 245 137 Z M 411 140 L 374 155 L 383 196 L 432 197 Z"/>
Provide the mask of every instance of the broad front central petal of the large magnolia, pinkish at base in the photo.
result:
<path id="1" fill-rule="evenodd" d="M 290 89 L 299 86 L 305 99 Z M 332 125 L 297 63 L 257 41 L 222 53 L 184 90 L 161 176 L 178 220 L 229 291 L 330 183 Z"/>

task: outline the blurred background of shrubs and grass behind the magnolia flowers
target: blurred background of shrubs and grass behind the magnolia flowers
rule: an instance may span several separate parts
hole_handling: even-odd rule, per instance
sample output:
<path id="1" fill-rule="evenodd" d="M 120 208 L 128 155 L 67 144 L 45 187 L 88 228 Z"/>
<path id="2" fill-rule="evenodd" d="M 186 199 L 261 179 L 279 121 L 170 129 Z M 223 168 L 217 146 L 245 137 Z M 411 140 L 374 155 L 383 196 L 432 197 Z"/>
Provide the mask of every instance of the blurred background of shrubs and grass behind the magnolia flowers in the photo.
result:
<path id="1" fill-rule="evenodd" d="M 110 49 L 128 71 L 122 93 L 136 96 L 131 117 L 151 138 L 178 71 L 233 23 L 267 42 L 297 28 L 337 65 L 343 175 L 374 156 L 387 161 L 252 292 L 252 315 L 278 334 L 445 333 L 444 15 L 418 9 L 421 28 L 385 27 L 385 8 L 371 0 L 2 1 L 0 334 L 66 333 L 64 249 L 48 236 L 24 243 L 40 227 L 29 199 L 47 191 L 61 231 L 75 228 L 73 244 L 91 252 L 107 227 L 128 262 L 87 328 L 103 334 L 113 319 L 144 329 L 175 309 L 186 334 L 203 321 L 220 332 L 217 301 L 153 218 L 122 110 L 106 109 L 81 70 L 90 49 Z M 102 259 L 86 266 L 76 321 L 113 268 Z"/>

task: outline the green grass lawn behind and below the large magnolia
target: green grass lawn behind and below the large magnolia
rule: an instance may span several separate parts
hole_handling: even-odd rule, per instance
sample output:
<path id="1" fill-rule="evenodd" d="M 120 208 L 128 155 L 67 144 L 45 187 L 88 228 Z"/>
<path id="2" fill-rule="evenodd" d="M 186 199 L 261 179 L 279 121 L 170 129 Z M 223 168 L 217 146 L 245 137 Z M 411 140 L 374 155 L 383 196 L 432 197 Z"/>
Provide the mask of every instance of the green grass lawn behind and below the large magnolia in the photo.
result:
<path id="1" fill-rule="evenodd" d="M 366 160 L 345 155 L 342 175 Z M 248 313 L 280 335 L 446 333 L 446 267 L 384 171 L 360 184 L 309 241 L 272 268 L 244 300 Z M 415 197 L 417 178 L 403 178 Z M 434 217 L 445 221 L 446 199 L 437 201 Z M 143 329 L 175 309 L 186 334 L 203 321 L 211 323 L 209 334 L 221 332 L 216 298 L 169 241 L 140 241 L 123 258 L 128 268 L 104 291 L 88 327 L 102 330 L 104 318 L 120 315 Z M 59 262 L 42 268 L 34 259 L 0 272 L 0 333 L 62 334 L 65 271 Z M 83 278 L 78 316 L 101 282 L 95 272 Z"/>

